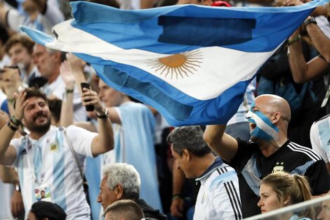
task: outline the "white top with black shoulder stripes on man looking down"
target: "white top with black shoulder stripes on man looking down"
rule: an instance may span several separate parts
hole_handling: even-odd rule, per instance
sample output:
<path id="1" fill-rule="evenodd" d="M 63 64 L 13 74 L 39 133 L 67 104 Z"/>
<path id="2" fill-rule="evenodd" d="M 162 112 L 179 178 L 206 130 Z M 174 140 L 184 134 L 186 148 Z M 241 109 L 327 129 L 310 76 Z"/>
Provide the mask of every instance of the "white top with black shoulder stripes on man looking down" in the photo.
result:
<path id="1" fill-rule="evenodd" d="M 235 169 L 220 157 L 196 179 L 201 182 L 194 209 L 194 220 L 242 219 L 239 182 Z"/>

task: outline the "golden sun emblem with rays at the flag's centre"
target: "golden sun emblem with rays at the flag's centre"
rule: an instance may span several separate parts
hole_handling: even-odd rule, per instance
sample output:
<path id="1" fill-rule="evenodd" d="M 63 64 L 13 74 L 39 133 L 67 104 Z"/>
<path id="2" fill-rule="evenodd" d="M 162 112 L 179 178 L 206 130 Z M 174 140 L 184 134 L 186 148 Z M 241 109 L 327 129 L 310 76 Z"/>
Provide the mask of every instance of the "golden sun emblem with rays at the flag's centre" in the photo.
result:
<path id="1" fill-rule="evenodd" d="M 187 51 L 164 58 L 148 60 L 148 66 L 155 69 L 154 71 L 159 72 L 160 75 L 164 74 L 165 77 L 171 77 L 171 79 L 176 77 L 178 79 L 178 77 L 189 77 L 189 75 L 197 72 L 202 60 L 203 57 L 200 51 Z"/>

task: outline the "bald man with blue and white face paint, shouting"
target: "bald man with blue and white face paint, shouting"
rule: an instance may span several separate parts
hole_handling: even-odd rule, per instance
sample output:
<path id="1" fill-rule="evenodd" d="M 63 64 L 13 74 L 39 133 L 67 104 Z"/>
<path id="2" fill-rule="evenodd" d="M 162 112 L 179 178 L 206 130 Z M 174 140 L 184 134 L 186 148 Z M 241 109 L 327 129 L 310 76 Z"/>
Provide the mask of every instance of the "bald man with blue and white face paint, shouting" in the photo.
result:
<path id="1" fill-rule="evenodd" d="M 251 140 L 225 134 L 225 124 L 206 127 L 204 139 L 239 176 L 243 216 L 260 214 L 258 193 L 263 177 L 288 172 L 308 177 L 313 195 L 329 191 L 330 177 L 326 165 L 310 148 L 289 141 L 291 118 L 289 103 L 275 95 L 258 96 L 246 114 Z"/>

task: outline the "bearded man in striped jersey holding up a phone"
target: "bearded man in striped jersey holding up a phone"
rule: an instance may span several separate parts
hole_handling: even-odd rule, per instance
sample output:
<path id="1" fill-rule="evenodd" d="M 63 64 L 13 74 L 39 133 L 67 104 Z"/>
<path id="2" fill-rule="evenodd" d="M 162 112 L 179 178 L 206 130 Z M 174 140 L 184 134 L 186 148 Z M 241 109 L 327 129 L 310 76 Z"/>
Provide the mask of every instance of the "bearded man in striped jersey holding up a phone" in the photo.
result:
<path id="1" fill-rule="evenodd" d="M 83 105 L 94 105 L 98 134 L 75 126 L 51 126 L 46 96 L 37 89 L 27 89 L 15 98 L 15 112 L 0 131 L 0 164 L 17 170 L 25 210 L 37 200 L 47 200 L 60 205 L 67 220 L 90 219 L 81 165 L 85 157 L 96 157 L 114 145 L 111 122 L 98 94 L 84 89 L 82 95 Z M 20 124 L 29 134 L 11 140 Z M 45 198 L 41 198 L 42 190 Z"/>

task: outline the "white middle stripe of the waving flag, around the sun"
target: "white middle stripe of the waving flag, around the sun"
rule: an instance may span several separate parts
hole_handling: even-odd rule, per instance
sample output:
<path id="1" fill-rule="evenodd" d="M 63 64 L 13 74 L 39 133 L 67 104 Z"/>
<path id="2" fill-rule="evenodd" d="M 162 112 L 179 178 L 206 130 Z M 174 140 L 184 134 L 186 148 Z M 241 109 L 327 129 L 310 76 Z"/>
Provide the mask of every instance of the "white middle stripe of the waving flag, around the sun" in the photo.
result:
<path id="1" fill-rule="evenodd" d="M 53 28 L 58 34 L 58 39 L 46 44 L 47 47 L 72 53 L 85 53 L 103 60 L 138 67 L 199 100 L 216 98 L 237 82 L 251 79 L 258 68 L 276 51 L 275 49 L 263 53 L 248 53 L 218 46 L 199 48 L 191 52 L 193 54 L 191 59 L 189 54 L 186 56 L 187 61 L 202 61 L 202 63 L 192 62 L 195 65 L 190 64 L 190 67 L 183 69 L 189 77 L 183 72 L 181 77 L 174 70 L 171 78 L 171 70 L 169 72 L 165 70 L 161 74 L 163 69 L 157 70 L 157 68 L 164 65 L 159 63 L 159 58 L 173 54 L 153 53 L 140 49 L 126 50 L 72 27 L 70 22 L 71 20 L 62 22 Z"/>

